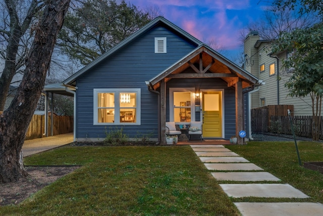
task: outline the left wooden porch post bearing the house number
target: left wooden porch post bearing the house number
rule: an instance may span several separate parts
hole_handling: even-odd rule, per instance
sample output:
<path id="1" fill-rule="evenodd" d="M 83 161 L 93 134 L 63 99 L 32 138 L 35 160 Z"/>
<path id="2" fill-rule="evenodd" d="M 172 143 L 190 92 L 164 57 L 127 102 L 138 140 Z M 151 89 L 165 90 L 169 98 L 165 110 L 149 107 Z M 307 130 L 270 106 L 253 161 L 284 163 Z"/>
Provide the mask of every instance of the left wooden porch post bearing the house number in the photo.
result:
<path id="1" fill-rule="evenodd" d="M 166 144 L 166 82 L 160 82 L 160 144 Z"/>

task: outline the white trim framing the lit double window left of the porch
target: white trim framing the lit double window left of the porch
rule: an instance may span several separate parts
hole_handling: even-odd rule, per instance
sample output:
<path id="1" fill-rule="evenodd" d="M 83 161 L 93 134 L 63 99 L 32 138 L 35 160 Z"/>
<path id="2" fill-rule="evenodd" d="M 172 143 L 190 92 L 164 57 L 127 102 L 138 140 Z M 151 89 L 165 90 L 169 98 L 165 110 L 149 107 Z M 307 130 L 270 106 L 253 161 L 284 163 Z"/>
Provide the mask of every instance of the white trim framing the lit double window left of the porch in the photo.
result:
<path id="1" fill-rule="evenodd" d="M 120 123 L 120 118 L 115 116 L 115 122 L 107 123 L 102 122 L 99 123 L 97 121 L 97 94 L 98 93 L 114 93 L 115 94 L 115 114 L 119 115 L 120 107 L 119 107 L 119 94 L 120 93 L 136 93 L 136 122 L 122 122 Z M 118 97 L 116 97 L 118 95 Z M 118 106 L 116 106 L 116 104 Z M 93 125 L 140 125 L 141 122 L 141 89 L 93 89 Z"/>

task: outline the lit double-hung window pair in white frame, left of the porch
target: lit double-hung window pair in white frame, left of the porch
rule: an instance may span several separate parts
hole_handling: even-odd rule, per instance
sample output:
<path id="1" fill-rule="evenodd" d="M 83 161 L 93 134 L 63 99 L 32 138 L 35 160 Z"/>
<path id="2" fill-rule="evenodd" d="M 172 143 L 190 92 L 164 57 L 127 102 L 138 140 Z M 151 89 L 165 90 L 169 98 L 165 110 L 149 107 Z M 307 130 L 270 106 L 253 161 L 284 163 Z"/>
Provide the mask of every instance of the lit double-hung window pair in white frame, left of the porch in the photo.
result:
<path id="1" fill-rule="evenodd" d="M 94 89 L 93 124 L 140 124 L 140 89 Z"/>

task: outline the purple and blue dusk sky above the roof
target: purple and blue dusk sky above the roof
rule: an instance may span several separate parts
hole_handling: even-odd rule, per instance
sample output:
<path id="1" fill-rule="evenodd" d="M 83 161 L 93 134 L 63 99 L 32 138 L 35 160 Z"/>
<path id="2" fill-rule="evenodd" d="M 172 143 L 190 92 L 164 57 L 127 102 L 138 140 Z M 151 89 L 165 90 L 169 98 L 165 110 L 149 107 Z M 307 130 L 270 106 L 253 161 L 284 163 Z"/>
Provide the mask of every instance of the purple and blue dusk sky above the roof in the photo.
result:
<path id="1" fill-rule="evenodd" d="M 241 29 L 263 16 L 267 3 L 260 0 L 131 0 L 139 10 L 157 8 L 170 22 L 226 50 L 232 60 L 242 51 Z"/>

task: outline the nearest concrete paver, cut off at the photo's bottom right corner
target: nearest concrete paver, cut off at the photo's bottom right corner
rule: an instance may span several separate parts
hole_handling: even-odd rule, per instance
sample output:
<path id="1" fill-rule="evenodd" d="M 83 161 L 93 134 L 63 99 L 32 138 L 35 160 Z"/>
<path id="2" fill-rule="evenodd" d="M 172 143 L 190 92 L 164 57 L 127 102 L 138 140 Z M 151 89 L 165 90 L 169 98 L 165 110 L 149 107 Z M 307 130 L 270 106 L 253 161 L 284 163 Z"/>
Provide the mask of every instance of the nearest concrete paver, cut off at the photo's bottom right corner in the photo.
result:
<path id="1" fill-rule="evenodd" d="M 323 204 L 315 202 L 235 202 L 234 204 L 244 216 L 318 216 L 323 214 Z"/>

